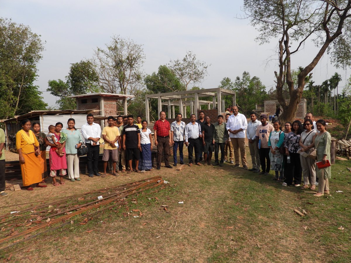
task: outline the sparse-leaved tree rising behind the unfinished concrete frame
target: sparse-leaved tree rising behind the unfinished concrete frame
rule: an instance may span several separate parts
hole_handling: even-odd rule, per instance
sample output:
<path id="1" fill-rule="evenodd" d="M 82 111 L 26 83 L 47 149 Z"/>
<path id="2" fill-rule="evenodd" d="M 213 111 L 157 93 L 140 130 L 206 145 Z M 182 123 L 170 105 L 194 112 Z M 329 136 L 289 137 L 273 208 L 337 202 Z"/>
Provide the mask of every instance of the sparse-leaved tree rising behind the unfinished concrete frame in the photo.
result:
<path id="1" fill-rule="evenodd" d="M 207 76 L 207 65 L 204 61 L 199 61 L 196 54 L 188 51 L 182 60 L 171 60 L 168 68 L 172 70 L 178 79 L 183 82 L 185 89 L 190 89 L 189 85 L 201 83 Z"/>

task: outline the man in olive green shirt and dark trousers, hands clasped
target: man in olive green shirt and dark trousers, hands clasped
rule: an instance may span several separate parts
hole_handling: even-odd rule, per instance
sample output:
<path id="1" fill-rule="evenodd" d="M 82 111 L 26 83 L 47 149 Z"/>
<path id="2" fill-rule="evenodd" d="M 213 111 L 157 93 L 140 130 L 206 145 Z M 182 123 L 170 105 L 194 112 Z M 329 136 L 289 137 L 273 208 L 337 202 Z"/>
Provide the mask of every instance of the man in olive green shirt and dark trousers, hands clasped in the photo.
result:
<path id="1" fill-rule="evenodd" d="M 224 123 L 223 115 L 218 115 L 218 123 L 214 123 L 213 143 L 214 143 L 214 165 L 223 166 L 224 146 L 228 142 L 229 135 L 226 131 L 227 124 Z M 220 148 L 220 163 L 218 162 L 218 152 Z"/>

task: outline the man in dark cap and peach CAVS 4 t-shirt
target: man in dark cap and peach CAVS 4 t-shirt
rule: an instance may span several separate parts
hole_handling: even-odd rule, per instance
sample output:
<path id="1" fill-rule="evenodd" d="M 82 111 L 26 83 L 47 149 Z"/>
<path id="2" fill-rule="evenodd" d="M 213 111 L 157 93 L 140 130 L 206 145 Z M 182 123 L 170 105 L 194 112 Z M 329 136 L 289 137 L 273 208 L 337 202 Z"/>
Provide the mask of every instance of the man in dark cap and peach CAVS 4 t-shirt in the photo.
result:
<path id="1" fill-rule="evenodd" d="M 262 171 L 259 174 L 267 175 L 271 169 L 271 159 L 269 158 L 270 148 L 268 146 L 268 140 L 270 133 L 274 130 L 273 125 L 267 122 L 267 114 L 261 114 L 261 125 L 256 130 L 256 147 L 260 155 L 260 163 Z M 267 160 L 267 163 L 266 163 Z M 259 172 L 259 170 L 254 171 Z"/>

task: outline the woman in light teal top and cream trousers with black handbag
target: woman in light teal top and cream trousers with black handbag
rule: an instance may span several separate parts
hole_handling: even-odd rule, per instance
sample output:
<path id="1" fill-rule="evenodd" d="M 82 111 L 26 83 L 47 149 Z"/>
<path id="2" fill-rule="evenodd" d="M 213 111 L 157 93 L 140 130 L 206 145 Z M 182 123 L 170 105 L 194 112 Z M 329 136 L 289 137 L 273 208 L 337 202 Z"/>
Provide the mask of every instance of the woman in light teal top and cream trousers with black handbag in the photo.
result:
<path id="1" fill-rule="evenodd" d="M 67 159 L 68 178 L 72 181 L 80 181 L 79 178 L 79 156 L 77 149 L 82 145 L 82 137 L 80 131 L 75 127 L 75 120 L 70 118 L 67 121 L 67 129 L 63 132 L 67 135 L 65 150 Z"/>

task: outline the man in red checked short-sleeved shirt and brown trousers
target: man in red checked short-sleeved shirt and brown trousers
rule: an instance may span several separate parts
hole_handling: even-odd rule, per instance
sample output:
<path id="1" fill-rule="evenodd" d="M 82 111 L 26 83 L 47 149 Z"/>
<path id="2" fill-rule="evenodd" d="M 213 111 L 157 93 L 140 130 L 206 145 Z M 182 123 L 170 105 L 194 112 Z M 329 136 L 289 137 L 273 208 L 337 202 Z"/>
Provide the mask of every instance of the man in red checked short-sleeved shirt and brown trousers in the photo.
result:
<path id="1" fill-rule="evenodd" d="M 171 126 L 170 123 L 166 120 L 166 113 L 160 112 L 160 119 L 155 121 L 154 124 L 154 139 L 155 145 L 157 146 L 157 170 L 161 169 L 161 157 L 162 157 L 162 150 L 164 151 L 165 155 L 165 166 L 167 168 L 173 168 L 170 166 L 168 162 L 169 152 L 170 152 L 170 145 L 172 145 L 172 141 L 170 140 L 171 137 Z"/>

